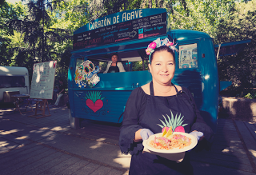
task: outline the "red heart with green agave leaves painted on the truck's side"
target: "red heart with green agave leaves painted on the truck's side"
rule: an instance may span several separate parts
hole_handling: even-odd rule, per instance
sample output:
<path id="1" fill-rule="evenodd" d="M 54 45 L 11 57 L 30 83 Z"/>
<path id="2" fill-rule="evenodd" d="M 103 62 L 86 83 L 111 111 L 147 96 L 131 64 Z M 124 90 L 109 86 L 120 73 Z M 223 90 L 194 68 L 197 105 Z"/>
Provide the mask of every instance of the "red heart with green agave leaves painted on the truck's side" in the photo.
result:
<path id="1" fill-rule="evenodd" d="M 90 91 L 86 94 L 86 105 L 96 113 L 103 107 L 103 99 L 100 91 Z"/>

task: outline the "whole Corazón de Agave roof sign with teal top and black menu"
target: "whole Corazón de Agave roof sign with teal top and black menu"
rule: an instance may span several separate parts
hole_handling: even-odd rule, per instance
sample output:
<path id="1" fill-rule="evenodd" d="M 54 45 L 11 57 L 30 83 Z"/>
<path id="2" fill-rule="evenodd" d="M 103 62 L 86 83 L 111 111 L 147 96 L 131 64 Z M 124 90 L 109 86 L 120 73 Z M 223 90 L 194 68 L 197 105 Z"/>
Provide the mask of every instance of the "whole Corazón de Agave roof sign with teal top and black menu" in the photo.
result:
<path id="1" fill-rule="evenodd" d="M 150 12 L 130 10 L 90 22 L 74 32 L 73 50 L 166 34 L 166 12 Z"/>

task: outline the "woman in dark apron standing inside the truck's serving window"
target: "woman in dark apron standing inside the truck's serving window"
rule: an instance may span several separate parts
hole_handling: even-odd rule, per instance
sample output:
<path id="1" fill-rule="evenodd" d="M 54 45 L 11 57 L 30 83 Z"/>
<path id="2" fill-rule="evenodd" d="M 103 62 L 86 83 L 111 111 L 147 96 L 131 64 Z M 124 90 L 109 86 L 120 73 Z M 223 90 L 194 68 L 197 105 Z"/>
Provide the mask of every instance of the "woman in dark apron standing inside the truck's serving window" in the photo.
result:
<path id="1" fill-rule="evenodd" d="M 126 72 L 126 70 L 122 66 L 122 62 L 118 62 L 118 54 L 112 54 L 111 61 L 106 66 L 106 73 L 115 73 L 115 72 Z"/>

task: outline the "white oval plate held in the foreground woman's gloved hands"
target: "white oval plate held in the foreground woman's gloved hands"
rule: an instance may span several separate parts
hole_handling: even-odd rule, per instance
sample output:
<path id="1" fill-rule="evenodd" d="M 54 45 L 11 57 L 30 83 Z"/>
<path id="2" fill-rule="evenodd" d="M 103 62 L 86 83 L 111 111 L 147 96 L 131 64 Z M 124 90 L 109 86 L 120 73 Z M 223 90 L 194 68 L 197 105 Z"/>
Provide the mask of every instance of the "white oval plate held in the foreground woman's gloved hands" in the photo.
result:
<path id="1" fill-rule="evenodd" d="M 174 132 L 173 134 L 181 134 L 183 136 L 186 137 L 190 137 L 191 138 L 191 144 L 189 146 L 186 146 L 182 149 L 179 148 L 174 148 L 174 149 L 155 149 L 153 147 L 151 147 L 150 145 L 148 145 L 148 143 L 154 139 L 154 137 L 162 137 L 162 133 L 156 133 L 152 136 L 150 136 L 147 140 L 142 142 L 142 145 L 146 148 L 149 149 L 150 151 L 154 151 L 157 153 L 182 153 L 185 151 L 188 151 L 190 149 L 193 149 L 194 146 L 196 146 L 198 144 L 198 139 L 196 137 L 194 137 L 193 135 L 189 134 L 189 133 L 181 133 L 181 132 Z"/>

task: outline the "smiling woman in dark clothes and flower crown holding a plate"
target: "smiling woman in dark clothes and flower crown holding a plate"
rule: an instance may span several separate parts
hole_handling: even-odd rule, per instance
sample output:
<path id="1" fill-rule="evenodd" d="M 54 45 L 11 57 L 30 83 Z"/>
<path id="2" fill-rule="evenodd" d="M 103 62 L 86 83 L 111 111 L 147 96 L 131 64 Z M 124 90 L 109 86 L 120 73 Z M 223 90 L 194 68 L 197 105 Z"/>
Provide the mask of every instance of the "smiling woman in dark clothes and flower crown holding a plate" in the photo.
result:
<path id="1" fill-rule="evenodd" d="M 134 89 L 126 103 L 119 145 L 122 153 L 132 155 L 130 174 L 193 174 L 190 153 L 177 163 L 166 158 L 142 153 L 142 141 L 162 132 L 161 121 L 181 114 L 182 122 L 175 123 L 174 131 L 191 133 L 198 140 L 212 140 L 213 132 L 203 121 L 190 91 L 171 83 L 175 72 L 174 46 L 168 38 L 150 43 L 149 69 L 152 82 Z M 164 117 L 163 117 L 164 116 Z M 161 120 L 161 121 L 160 121 Z M 174 119 L 174 121 L 176 121 Z M 173 127 L 174 127 L 173 125 Z M 203 136 L 202 136 L 203 135 Z"/>

